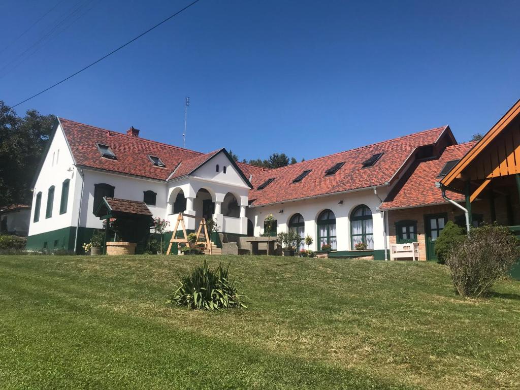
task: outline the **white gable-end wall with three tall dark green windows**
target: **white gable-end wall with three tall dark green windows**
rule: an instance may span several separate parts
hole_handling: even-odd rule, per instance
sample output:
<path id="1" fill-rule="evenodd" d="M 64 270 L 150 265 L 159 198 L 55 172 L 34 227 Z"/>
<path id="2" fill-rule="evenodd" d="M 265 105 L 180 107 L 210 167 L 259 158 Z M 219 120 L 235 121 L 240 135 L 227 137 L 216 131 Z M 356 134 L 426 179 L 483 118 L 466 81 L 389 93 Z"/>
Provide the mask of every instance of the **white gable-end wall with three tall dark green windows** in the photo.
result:
<path id="1" fill-rule="evenodd" d="M 72 220 L 73 199 L 76 188 L 74 183 L 76 181 L 77 171 L 74 169 L 73 164 L 72 154 L 70 153 L 67 141 L 63 135 L 61 126 L 58 126 L 56 134 L 50 143 L 47 155 L 45 156 L 42 170 L 34 186 L 29 236 L 75 225 L 72 223 Z M 69 169 L 70 171 L 68 171 Z M 69 201 L 67 205 L 67 213 L 60 214 L 61 185 L 65 179 L 70 179 Z M 48 189 L 53 185 L 55 186 L 53 214 L 50 218 L 46 218 L 45 211 L 47 209 Z M 38 222 L 33 222 L 36 195 L 40 191 L 42 192 L 40 219 Z"/>

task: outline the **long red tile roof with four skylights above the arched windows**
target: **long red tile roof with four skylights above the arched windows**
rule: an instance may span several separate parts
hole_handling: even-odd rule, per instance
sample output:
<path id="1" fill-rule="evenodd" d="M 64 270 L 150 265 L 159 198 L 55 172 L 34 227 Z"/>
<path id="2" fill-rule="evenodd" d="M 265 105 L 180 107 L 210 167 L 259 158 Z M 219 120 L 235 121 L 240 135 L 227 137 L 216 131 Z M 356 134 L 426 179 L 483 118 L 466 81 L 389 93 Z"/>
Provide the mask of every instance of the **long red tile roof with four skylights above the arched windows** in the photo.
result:
<path id="1" fill-rule="evenodd" d="M 435 144 L 445 131 L 450 132 L 448 126 L 253 174 L 255 188 L 249 191 L 250 204 L 259 206 L 383 185 L 399 171 L 415 148 Z M 373 166 L 362 168 L 362 162 L 376 153 L 384 154 Z M 339 171 L 324 175 L 324 171 L 339 162 L 345 162 Z M 299 183 L 292 183 L 306 170 L 312 171 Z M 275 180 L 265 189 L 256 189 L 269 178 Z"/>

